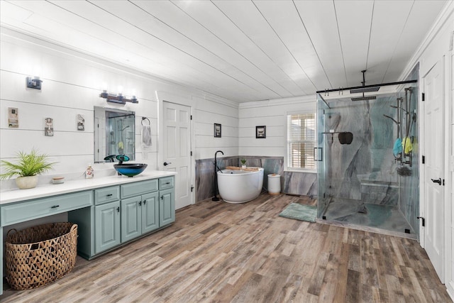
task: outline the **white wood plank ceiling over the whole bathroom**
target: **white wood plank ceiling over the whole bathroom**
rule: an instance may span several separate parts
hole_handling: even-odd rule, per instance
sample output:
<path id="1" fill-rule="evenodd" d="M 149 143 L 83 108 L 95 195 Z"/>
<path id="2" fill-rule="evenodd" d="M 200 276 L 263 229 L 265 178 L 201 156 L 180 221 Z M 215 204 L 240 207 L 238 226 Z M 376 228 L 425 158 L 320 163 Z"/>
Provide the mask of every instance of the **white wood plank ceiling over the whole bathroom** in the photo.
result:
<path id="1" fill-rule="evenodd" d="M 4 1 L 1 26 L 236 102 L 398 81 L 448 1 Z"/>

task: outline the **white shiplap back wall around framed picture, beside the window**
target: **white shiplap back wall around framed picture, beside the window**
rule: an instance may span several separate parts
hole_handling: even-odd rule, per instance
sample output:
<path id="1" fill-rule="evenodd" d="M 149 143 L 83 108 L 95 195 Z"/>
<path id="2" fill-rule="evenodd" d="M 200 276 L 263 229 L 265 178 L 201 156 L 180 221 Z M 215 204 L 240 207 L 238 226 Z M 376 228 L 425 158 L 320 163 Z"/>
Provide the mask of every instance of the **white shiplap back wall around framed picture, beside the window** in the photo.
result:
<path id="1" fill-rule="evenodd" d="M 286 163 L 287 114 L 315 111 L 315 96 L 240 104 L 239 155 L 283 156 Z M 266 126 L 266 138 L 255 138 L 255 126 Z"/>

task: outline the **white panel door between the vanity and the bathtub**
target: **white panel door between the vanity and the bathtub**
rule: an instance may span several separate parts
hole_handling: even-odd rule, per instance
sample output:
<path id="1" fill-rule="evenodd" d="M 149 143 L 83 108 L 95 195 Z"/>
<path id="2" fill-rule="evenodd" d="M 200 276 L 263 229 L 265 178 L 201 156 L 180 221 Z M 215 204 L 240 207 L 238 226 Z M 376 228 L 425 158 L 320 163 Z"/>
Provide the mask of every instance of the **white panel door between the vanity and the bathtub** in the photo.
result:
<path id="1" fill-rule="evenodd" d="M 192 204 L 191 194 L 191 108 L 162 102 L 163 167 L 175 176 L 175 209 Z"/>

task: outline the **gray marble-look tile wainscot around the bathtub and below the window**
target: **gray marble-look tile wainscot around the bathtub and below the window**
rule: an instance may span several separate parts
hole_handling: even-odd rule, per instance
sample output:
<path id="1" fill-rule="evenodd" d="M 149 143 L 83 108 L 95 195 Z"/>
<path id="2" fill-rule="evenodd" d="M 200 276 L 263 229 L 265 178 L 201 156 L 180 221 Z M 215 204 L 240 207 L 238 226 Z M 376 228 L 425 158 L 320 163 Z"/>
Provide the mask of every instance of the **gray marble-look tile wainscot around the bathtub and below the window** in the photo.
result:
<path id="1" fill-rule="evenodd" d="M 281 175 L 281 192 L 297 195 L 316 195 L 317 175 L 311 172 L 284 172 L 284 157 L 233 156 L 217 158 L 218 167 L 240 166 L 240 159 L 250 167 L 263 167 L 263 187 L 267 189 L 268 175 Z M 196 160 L 196 202 L 214 196 L 214 158 Z"/>

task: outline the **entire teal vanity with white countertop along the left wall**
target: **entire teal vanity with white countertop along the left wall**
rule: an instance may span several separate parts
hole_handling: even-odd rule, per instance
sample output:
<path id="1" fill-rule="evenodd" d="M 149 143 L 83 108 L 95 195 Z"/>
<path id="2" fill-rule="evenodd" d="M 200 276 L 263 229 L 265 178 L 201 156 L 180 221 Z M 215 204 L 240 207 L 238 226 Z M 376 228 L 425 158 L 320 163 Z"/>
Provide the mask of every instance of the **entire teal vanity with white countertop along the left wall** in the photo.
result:
<path id="1" fill-rule="evenodd" d="M 143 173 L 140 180 L 118 176 L 74 180 L 0 195 L 0 243 L 12 224 L 67 213 L 77 224 L 77 253 L 100 253 L 157 231 L 175 221 L 175 172 Z M 4 246 L 0 246 L 0 277 Z M 3 292 L 0 283 L 0 295 Z"/>

